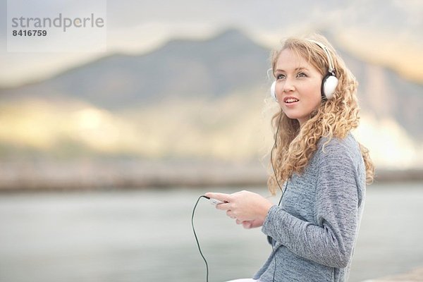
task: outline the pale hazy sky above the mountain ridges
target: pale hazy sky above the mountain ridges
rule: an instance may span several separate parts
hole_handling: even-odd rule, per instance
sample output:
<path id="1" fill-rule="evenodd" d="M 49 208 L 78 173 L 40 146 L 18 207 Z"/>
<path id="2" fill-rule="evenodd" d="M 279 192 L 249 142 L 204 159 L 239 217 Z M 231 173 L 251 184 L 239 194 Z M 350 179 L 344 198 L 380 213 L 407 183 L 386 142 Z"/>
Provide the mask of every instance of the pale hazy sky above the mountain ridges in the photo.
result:
<path id="1" fill-rule="evenodd" d="M 32 1 L 45 13 L 59 13 L 58 4 L 66 13 L 87 13 L 90 2 L 105 3 L 105 0 Z M 7 16 L 6 4 L 7 0 L 0 0 L 2 19 Z M 351 37 L 360 32 L 366 36 L 371 34 L 385 38 L 384 44 L 389 37 L 423 45 L 423 1 L 420 0 L 109 0 L 106 11 L 105 52 L 8 52 L 7 23 L 2 20 L 0 87 L 46 78 L 83 61 L 117 51 L 140 54 L 172 37 L 209 37 L 227 27 L 240 28 L 269 47 L 283 36 L 314 29 L 350 32 Z"/>

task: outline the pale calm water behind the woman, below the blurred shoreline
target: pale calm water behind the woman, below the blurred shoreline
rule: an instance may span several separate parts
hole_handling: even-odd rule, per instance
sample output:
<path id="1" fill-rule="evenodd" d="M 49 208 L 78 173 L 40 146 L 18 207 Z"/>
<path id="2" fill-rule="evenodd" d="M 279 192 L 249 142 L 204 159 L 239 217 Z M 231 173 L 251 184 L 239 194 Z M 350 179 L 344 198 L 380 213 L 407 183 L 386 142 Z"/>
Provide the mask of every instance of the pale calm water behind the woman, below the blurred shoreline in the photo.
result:
<path id="1" fill-rule="evenodd" d="M 205 191 L 0 195 L 0 281 L 205 281 L 190 222 Z M 350 281 L 422 266 L 422 214 L 422 183 L 369 186 Z M 195 227 L 211 282 L 251 276 L 271 252 L 259 228 L 237 226 L 205 200 Z"/>

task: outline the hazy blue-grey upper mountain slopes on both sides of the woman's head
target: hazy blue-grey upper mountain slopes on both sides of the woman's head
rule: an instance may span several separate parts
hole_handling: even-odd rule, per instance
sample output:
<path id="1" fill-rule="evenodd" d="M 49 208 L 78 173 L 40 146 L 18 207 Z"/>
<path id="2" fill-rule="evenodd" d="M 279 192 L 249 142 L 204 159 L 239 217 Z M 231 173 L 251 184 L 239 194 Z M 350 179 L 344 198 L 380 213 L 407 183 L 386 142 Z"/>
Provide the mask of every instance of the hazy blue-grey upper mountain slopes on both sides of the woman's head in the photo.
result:
<path id="1" fill-rule="evenodd" d="M 336 48 L 360 82 L 362 109 L 393 116 L 423 140 L 417 122 L 423 120 L 423 85 Z M 113 111 L 171 98 L 219 97 L 266 84 L 269 56 L 242 32 L 227 30 L 204 41 L 173 40 L 149 54 L 107 56 L 42 82 L 0 90 L 0 99 L 70 97 Z"/>

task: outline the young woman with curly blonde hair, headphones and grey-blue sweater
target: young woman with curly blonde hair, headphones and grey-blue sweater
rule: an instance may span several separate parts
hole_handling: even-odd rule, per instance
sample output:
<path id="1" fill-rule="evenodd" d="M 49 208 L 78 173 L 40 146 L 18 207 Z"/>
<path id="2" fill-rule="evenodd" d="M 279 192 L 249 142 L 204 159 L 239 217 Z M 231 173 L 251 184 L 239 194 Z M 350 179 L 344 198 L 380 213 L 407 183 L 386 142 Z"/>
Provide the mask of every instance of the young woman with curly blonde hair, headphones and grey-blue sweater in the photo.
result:
<path id="1" fill-rule="evenodd" d="M 272 194 L 209 192 L 217 209 L 245 228 L 262 226 L 272 252 L 253 278 L 238 281 L 347 281 L 374 167 L 351 135 L 357 128 L 357 81 L 321 35 L 290 38 L 274 52 Z M 283 185 L 279 185 L 283 183 Z M 281 187 L 282 186 L 282 187 Z M 282 189 L 283 188 L 283 189 Z"/>

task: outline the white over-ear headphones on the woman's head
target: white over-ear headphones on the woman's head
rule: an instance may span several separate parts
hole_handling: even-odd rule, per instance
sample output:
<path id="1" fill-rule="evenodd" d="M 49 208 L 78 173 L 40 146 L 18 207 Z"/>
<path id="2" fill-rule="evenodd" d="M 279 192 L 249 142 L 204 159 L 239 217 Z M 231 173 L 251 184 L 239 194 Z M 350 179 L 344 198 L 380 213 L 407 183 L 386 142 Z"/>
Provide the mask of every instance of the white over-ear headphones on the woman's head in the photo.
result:
<path id="1" fill-rule="evenodd" d="M 328 47 L 326 47 L 326 45 L 312 39 L 307 39 L 307 41 L 317 44 L 326 53 L 329 67 L 328 67 L 328 73 L 324 76 L 323 80 L 321 80 L 320 92 L 321 92 L 321 99 L 328 99 L 328 100 L 332 99 L 333 94 L 335 93 L 336 87 L 338 86 L 338 78 L 336 78 L 335 76 L 335 68 L 333 67 L 332 56 L 329 53 Z M 271 94 L 271 97 L 275 99 L 275 101 L 278 101 L 278 98 L 276 97 L 276 81 L 274 81 L 271 84 L 270 94 Z"/>

